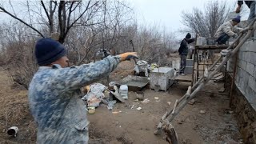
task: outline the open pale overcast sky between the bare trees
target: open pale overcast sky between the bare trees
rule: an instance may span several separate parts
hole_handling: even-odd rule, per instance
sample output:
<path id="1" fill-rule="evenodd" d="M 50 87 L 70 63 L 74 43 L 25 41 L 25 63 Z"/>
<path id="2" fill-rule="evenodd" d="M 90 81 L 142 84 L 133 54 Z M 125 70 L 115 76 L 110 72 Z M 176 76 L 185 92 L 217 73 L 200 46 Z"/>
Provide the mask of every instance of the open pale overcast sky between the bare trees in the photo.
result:
<path id="1" fill-rule="evenodd" d="M 147 25 L 165 26 L 167 30 L 177 32 L 184 28 L 182 11 L 191 11 L 193 7 L 204 9 L 207 0 L 128 0 L 134 6 L 138 22 Z M 222 0 L 218 0 L 222 2 Z M 234 6 L 237 0 L 226 0 Z M 244 6 L 246 7 L 246 6 Z M 247 9 L 247 7 L 246 7 Z M 246 19 L 246 18 L 243 18 Z M 177 33 L 176 33 L 177 34 Z M 178 34 L 179 36 L 180 34 Z"/>

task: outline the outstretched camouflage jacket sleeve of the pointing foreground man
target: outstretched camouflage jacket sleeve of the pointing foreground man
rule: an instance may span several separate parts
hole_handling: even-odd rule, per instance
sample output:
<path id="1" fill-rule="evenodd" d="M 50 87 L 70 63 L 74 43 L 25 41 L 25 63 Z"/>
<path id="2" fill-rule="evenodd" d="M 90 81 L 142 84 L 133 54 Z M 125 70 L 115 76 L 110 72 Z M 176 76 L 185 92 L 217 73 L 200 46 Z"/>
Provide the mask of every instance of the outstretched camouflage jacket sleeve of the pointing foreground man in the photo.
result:
<path id="1" fill-rule="evenodd" d="M 108 56 L 98 62 L 57 69 L 51 84 L 60 91 L 77 90 L 108 76 L 119 62 L 119 56 Z"/>

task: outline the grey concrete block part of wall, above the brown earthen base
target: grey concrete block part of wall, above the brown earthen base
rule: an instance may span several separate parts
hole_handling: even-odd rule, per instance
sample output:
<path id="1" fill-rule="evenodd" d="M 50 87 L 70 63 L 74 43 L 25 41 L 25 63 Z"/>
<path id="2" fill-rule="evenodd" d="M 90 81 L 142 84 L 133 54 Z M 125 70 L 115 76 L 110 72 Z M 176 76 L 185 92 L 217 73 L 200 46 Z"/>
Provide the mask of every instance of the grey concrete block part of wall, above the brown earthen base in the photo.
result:
<path id="1" fill-rule="evenodd" d="M 228 70 L 233 71 L 235 59 L 230 59 Z M 256 110 L 256 41 L 248 41 L 238 52 L 235 84 Z"/>

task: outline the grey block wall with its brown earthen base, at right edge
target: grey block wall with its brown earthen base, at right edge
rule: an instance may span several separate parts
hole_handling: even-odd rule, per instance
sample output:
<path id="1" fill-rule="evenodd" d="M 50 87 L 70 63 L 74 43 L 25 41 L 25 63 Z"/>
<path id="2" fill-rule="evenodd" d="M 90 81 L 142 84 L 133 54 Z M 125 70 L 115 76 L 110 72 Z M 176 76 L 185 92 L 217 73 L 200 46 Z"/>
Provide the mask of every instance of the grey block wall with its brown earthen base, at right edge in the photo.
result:
<path id="1" fill-rule="evenodd" d="M 234 70 L 235 58 L 228 62 Z M 245 143 L 256 143 L 256 41 L 245 42 L 238 52 L 232 107 Z M 232 73 L 230 77 L 232 77 Z"/>

